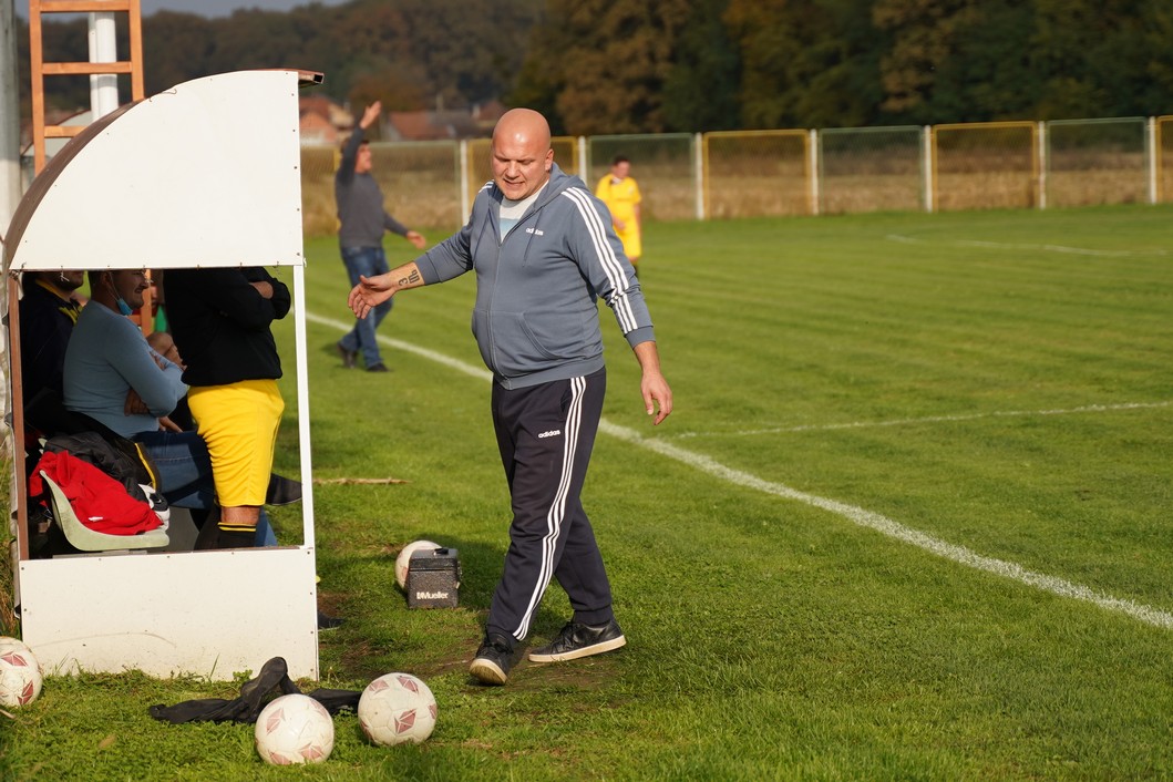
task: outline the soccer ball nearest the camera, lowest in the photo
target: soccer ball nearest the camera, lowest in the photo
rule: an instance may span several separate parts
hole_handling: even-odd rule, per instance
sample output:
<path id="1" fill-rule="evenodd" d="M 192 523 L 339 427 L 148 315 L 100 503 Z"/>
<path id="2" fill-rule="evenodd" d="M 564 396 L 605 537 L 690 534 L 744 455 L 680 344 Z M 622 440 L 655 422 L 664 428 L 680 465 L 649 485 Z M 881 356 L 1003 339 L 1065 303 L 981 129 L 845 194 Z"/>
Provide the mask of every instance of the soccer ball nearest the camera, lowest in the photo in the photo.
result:
<path id="1" fill-rule="evenodd" d="M 257 754 L 266 763 L 320 763 L 334 749 L 334 721 L 326 707 L 297 693 L 274 698 L 257 718 Z"/>

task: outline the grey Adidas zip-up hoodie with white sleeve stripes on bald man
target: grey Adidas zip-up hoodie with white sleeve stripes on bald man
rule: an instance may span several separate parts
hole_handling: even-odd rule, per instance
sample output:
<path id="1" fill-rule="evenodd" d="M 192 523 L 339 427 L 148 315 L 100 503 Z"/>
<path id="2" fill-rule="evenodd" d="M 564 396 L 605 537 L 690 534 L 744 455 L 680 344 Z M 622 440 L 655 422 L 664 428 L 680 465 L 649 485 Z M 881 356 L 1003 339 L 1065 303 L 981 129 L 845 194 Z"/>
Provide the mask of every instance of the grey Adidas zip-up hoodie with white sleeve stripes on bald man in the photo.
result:
<path id="1" fill-rule="evenodd" d="M 415 261 L 426 285 L 476 271 L 473 334 L 499 383 L 523 388 L 602 369 L 599 297 L 632 347 L 656 339 L 611 215 L 582 179 L 555 164 L 503 242 L 501 199 L 486 184 L 465 227 Z"/>

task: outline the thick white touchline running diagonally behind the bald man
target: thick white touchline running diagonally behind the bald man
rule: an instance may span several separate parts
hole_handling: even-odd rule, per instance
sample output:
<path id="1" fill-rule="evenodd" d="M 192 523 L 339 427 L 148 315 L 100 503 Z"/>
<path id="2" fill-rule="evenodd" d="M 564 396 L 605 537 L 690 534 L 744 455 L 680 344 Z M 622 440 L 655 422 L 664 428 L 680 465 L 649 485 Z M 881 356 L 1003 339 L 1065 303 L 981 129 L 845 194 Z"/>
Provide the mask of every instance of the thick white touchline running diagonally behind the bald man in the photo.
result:
<path id="1" fill-rule="evenodd" d="M 337 328 L 340 332 L 347 332 L 352 326 L 352 324 L 344 324 L 330 318 L 323 318 L 312 312 L 306 313 L 306 320 Z M 474 367 L 441 353 L 382 335 L 379 335 L 379 341 L 395 349 L 406 351 L 425 359 L 436 361 L 438 363 L 461 372 L 466 375 L 472 375 L 473 378 L 483 380 L 491 380 L 491 375 L 486 369 Z M 645 438 L 637 431 L 628 429 L 626 427 L 613 424 L 605 419 L 599 423 L 599 430 L 632 446 L 644 448 L 659 454 L 660 456 L 666 456 L 682 462 L 689 467 L 700 470 L 701 472 L 725 481 L 726 483 L 732 483 L 746 489 L 754 489 L 775 497 L 793 499 L 820 510 L 826 510 L 836 516 L 841 516 L 854 524 L 875 530 L 881 535 L 886 535 L 902 543 L 909 543 L 928 551 L 929 553 L 956 562 L 961 565 L 994 573 L 995 576 L 1002 576 L 1003 578 L 1009 578 L 1022 584 L 1026 584 L 1028 586 L 1043 590 L 1044 592 L 1051 592 L 1052 594 L 1057 594 L 1059 597 L 1091 603 L 1100 608 L 1123 613 L 1148 625 L 1167 630 L 1173 628 L 1173 614 L 1165 611 L 1134 603 L 1132 600 L 1116 598 L 1104 592 L 1097 592 L 1087 586 L 1074 584 L 1062 578 L 1026 570 L 1022 565 L 1012 562 L 995 559 L 992 557 L 983 557 L 974 551 L 970 551 L 965 546 L 945 543 L 944 540 L 940 540 L 930 535 L 904 526 L 903 524 L 900 524 L 899 522 L 895 522 L 886 516 L 881 516 L 880 514 L 874 514 L 869 510 L 838 502 L 835 499 L 828 499 L 826 497 L 819 497 L 805 491 L 799 491 L 798 489 L 792 489 L 781 483 L 764 481 L 748 472 L 725 467 L 724 464 L 703 454 L 685 450 L 662 440 Z"/>

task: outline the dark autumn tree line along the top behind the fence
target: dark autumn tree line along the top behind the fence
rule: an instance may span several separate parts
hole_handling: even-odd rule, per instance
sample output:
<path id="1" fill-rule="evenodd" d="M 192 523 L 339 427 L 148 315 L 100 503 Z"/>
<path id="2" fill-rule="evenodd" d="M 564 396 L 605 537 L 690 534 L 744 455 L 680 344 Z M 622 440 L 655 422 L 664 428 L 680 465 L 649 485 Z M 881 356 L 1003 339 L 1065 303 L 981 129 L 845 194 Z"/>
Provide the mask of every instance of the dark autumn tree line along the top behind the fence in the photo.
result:
<path id="1" fill-rule="evenodd" d="M 354 0 L 160 12 L 143 39 L 149 93 L 294 66 L 340 101 L 496 98 L 560 134 L 1173 113 L 1168 0 Z M 46 46 L 87 59 L 84 20 L 47 25 Z"/>

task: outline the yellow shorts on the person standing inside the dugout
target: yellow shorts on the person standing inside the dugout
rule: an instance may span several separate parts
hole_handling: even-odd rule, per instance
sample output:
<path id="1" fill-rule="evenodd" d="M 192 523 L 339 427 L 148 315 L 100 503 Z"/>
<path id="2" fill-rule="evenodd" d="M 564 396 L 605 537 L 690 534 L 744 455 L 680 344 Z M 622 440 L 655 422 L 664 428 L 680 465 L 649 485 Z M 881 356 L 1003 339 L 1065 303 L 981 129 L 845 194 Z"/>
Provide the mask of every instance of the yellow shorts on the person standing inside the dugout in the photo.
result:
<path id="1" fill-rule="evenodd" d="M 212 457 L 219 504 L 264 505 L 285 409 L 277 381 L 195 387 L 188 392 L 188 404 Z"/>

